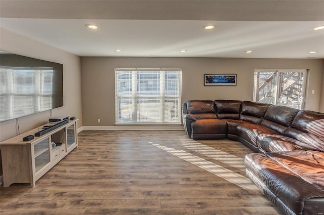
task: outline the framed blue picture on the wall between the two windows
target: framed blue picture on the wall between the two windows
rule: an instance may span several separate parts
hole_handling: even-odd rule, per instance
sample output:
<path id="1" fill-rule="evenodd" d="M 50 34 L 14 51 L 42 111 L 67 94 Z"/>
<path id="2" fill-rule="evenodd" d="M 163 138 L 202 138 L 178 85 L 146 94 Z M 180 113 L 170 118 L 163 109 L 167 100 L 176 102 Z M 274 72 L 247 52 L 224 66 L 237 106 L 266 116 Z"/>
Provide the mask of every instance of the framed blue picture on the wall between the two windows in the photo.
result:
<path id="1" fill-rule="evenodd" d="M 236 86 L 236 74 L 205 74 L 205 86 Z"/>

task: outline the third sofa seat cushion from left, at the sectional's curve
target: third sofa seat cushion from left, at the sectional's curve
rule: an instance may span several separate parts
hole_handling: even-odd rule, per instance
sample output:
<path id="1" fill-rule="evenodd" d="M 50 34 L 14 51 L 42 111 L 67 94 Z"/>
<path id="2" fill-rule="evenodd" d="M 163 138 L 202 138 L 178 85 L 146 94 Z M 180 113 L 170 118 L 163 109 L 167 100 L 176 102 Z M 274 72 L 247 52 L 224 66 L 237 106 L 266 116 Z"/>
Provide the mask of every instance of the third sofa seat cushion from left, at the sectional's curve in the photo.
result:
<path id="1" fill-rule="evenodd" d="M 240 141 L 245 140 L 246 142 L 253 144 L 254 146 L 257 146 L 257 139 L 260 134 L 279 134 L 271 128 L 258 124 L 242 123 L 237 125 L 236 129 Z"/>

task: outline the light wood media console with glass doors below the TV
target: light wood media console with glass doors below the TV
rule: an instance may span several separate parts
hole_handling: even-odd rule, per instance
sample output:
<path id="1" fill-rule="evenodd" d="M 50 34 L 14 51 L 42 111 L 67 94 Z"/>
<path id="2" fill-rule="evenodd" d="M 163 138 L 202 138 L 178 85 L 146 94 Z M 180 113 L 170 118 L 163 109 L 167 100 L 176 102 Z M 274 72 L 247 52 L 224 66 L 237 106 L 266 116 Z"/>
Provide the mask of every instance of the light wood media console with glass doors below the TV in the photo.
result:
<path id="1" fill-rule="evenodd" d="M 14 183 L 30 183 L 44 176 L 55 164 L 62 160 L 74 148 L 77 148 L 77 120 L 55 127 L 50 132 L 34 137 L 31 141 L 23 141 L 23 137 L 37 133 L 45 125 L 39 126 L 19 136 L 10 138 L 1 145 L 4 187 Z M 52 149 L 51 143 L 62 143 Z"/>

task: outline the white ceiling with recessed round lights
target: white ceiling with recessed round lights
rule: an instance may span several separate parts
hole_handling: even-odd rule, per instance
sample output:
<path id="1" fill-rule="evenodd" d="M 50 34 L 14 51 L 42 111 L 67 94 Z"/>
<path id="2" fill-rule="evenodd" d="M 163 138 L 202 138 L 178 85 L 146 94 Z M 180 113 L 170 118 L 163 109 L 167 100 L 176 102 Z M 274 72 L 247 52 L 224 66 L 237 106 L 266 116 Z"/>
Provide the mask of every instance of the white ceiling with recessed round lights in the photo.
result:
<path id="1" fill-rule="evenodd" d="M 324 58 L 313 2 L 2 0 L 0 26 L 78 56 Z"/>

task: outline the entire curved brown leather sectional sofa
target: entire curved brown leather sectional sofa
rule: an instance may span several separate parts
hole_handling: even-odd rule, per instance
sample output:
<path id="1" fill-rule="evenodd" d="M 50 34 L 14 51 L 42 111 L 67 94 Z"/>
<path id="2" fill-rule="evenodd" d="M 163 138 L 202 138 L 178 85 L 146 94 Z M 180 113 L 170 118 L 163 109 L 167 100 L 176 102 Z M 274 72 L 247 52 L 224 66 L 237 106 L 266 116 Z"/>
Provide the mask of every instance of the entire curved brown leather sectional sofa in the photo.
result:
<path id="1" fill-rule="evenodd" d="M 250 101 L 187 101 L 192 139 L 230 139 L 258 153 L 247 177 L 285 214 L 324 214 L 324 113 Z"/>

